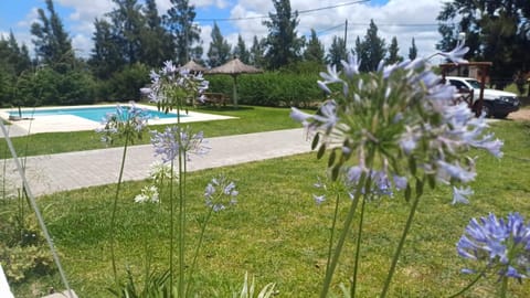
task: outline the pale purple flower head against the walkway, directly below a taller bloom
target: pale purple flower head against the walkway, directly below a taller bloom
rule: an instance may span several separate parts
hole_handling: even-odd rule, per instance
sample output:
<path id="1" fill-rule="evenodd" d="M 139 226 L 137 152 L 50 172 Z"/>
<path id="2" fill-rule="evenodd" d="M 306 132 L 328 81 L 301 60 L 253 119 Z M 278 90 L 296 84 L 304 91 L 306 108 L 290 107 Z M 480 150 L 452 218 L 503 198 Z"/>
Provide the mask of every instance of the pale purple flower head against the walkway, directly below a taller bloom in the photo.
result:
<path id="1" fill-rule="evenodd" d="M 189 160 L 190 153 L 204 155 L 209 149 L 204 146 L 202 131 L 193 134 L 189 127 L 168 126 L 161 132 L 151 134 L 155 156 L 161 156 L 163 162 L 172 161 L 179 155 Z"/>

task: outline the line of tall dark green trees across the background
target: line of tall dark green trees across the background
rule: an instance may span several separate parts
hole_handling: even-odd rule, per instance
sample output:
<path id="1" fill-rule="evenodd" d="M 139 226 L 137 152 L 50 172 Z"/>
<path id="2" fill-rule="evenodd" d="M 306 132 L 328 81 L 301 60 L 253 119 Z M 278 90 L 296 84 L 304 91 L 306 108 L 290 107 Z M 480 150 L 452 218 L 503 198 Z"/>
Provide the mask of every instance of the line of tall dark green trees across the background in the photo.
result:
<path id="1" fill-rule="evenodd" d="M 346 40 L 335 36 L 326 51 L 315 30 L 308 39 L 297 32 L 298 12 L 292 10 L 289 0 L 272 1 L 275 11 L 263 21 L 268 30 L 265 38 L 254 35 L 252 45 L 247 46 L 240 34 L 237 43 L 231 45 L 214 22 L 211 42 L 204 52 L 201 29 L 194 23 L 195 8 L 188 0 L 170 0 L 171 7 L 161 15 L 155 0 L 142 3 L 113 0 L 115 8 L 94 20 L 94 46 L 89 56 L 83 58 L 76 55 L 53 0 L 45 0 L 45 10 L 38 10 L 39 19 L 31 26 L 35 57 L 30 58 L 26 45 L 19 45 L 12 33 L 0 39 L 0 100 L 2 106 L 137 100 L 139 87 L 148 83 L 149 71 L 167 60 L 180 65 L 194 60 L 215 67 L 237 56 L 244 63 L 268 71 L 318 72 L 324 64 L 336 64 L 340 68 L 340 60 L 349 52 L 361 60 L 361 71 L 374 70 L 382 60 L 395 63 L 404 58 L 399 54 L 398 39 L 392 38 L 388 44 L 379 36 L 373 20 L 365 35 L 356 39 L 353 49 L 347 49 Z M 512 35 L 516 31 L 530 31 L 529 3 L 524 0 L 447 2 L 438 15 L 442 41 L 437 46 L 451 50 L 458 33 L 466 32 L 470 60 L 492 61 L 494 73 L 502 77 L 526 73 L 530 55 L 523 52 L 530 49 L 529 39 L 524 39 L 524 34 Z M 453 24 L 462 11 L 480 9 L 484 10 L 480 19 L 470 13 L 465 14 L 458 25 Z M 484 17 L 488 12 L 500 17 Z M 500 36 L 500 42 L 495 34 Z M 502 54 L 496 55 L 498 49 Z M 412 39 L 407 58 L 416 56 L 417 47 Z"/>

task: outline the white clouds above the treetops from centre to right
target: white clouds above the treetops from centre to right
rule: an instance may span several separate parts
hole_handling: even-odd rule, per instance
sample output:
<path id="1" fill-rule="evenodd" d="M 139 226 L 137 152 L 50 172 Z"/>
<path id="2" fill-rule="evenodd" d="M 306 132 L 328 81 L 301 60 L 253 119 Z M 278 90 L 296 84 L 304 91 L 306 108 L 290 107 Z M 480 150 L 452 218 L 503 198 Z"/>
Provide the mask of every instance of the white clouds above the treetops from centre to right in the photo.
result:
<path id="1" fill-rule="evenodd" d="M 365 35 L 370 20 L 378 25 L 379 35 L 385 39 L 389 44 L 393 36 L 396 36 L 402 55 L 409 54 L 412 38 L 418 47 L 420 55 L 428 55 L 435 51 L 435 44 L 439 40 L 437 25 L 411 24 L 436 24 L 436 17 L 442 8 L 439 0 L 390 0 L 381 7 L 371 7 L 368 3 L 340 6 L 331 9 L 321 9 L 340 6 L 337 1 L 327 0 L 292 0 L 293 11 L 301 12 L 298 17 L 298 33 L 309 35 L 315 29 L 320 41 L 329 49 L 333 35 L 344 36 L 344 21 L 348 19 L 348 47 L 354 47 L 354 40 L 361 40 Z M 307 10 L 315 10 L 304 12 Z M 321 9 L 321 10 L 319 10 Z M 256 15 L 268 15 L 274 7 L 271 1 L 240 0 L 232 9 L 231 18 L 252 18 Z M 233 25 L 245 39 L 247 45 L 252 44 L 252 38 L 256 34 L 265 36 L 267 29 L 262 24 L 264 19 L 252 19 L 234 21 Z M 333 30 L 329 30 L 335 28 Z"/>

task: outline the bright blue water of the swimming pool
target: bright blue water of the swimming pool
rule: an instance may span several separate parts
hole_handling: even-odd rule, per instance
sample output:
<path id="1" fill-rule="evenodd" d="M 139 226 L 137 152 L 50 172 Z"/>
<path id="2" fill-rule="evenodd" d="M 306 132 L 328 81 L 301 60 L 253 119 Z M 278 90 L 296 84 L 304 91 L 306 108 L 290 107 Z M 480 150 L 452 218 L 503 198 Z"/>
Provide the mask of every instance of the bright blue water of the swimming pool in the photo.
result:
<path id="1" fill-rule="evenodd" d="M 105 115 L 116 114 L 116 106 L 108 107 L 82 107 L 82 108 L 50 108 L 50 109 L 22 109 L 22 118 L 32 118 L 38 116 L 54 116 L 54 115 L 73 115 L 82 117 L 88 120 L 100 123 Z M 177 114 L 146 109 L 150 119 L 168 119 L 176 118 Z M 19 116 L 19 111 L 10 111 L 11 116 Z M 180 117 L 187 117 L 187 115 L 180 115 Z"/>

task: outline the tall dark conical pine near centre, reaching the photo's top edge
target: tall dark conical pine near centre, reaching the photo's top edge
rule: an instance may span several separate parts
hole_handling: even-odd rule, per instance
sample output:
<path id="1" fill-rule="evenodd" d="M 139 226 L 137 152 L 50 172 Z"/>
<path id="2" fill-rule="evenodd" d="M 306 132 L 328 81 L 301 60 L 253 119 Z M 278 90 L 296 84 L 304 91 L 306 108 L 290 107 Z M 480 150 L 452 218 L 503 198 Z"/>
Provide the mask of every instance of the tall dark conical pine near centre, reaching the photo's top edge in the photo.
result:
<path id="1" fill-rule="evenodd" d="M 268 28 L 265 58 L 276 70 L 301 60 L 305 39 L 297 36 L 298 12 L 292 12 L 289 0 L 273 0 L 273 4 L 276 13 L 268 13 L 271 20 L 263 24 Z"/>

